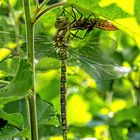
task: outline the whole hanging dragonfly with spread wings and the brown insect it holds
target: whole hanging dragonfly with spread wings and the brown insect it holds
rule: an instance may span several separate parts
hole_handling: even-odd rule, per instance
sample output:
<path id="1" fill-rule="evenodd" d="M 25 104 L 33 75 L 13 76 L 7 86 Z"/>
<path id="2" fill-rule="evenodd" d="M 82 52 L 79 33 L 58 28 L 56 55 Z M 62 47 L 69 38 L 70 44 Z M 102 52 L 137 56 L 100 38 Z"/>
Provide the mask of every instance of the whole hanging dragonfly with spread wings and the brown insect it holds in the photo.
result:
<path id="1" fill-rule="evenodd" d="M 72 17 L 74 18 L 72 21 L 70 21 L 66 16 L 66 13 L 67 11 L 64 9 L 62 14 L 57 18 L 56 33 L 53 38 L 49 38 L 47 35 L 35 36 L 35 56 L 38 61 L 43 57 L 55 58 L 56 60 L 61 61 L 60 100 L 62 134 L 64 140 L 67 140 L 68 129 L 66 118 L 66 65 L 79 66 L 95 79 L 115 79 L 124 76 L 126 73 L 123 67 L 111 62 L 109 59 L 110 57 L 107 58 L 109 52 L 113 53 L 113 50 L 115 50 L 116 43 L 114 43 L 114 40 L 106 37 L 102 39 L 93 38 L 93 36 L 86 37 L 87 33 L 92 31 L 94 28 L 103 30 L 117 30 L 117 27 L 112 25 L 107 20 L 96 18 L 92 19 L 90 16 L 88 18 L 83 18 L 81 16 L 79 19 L 76 19 L 75 15 L 77 13 L 75 11 L 72 14 Z M 96 21 L 96 24 L 94 23 L 94 26 L 92 25 L 92 28 L 89 28 L 89 25 L 93 23 L 93 21 Z M 75 33 L 73 33 L 73 30 Z M 82 39 L 81 37 L 77 36 L 79 30 L 87 31 Z M 8 41 L 8 39 L 10 40 L 11 38 L 14 40 L 13 36 L 14 35 L 11 33 L 0 32 L 1 41 Z M 18 38 L 23 41 L 22 44 L 25 43 L 25 37 L 18 36 Z M 86 42 L 84 38 L 88 42 Z M 1 46 L 4 47 L 3 44 Z M 25 47 L 23 47 L 23 50 L 24 49 Z M 10 48 L 10 51 L 11 50 L 16 52 L 16 50 L 13 48 Z M 13 53 L 13 55 L 14 54 L 16 53 Z"/>

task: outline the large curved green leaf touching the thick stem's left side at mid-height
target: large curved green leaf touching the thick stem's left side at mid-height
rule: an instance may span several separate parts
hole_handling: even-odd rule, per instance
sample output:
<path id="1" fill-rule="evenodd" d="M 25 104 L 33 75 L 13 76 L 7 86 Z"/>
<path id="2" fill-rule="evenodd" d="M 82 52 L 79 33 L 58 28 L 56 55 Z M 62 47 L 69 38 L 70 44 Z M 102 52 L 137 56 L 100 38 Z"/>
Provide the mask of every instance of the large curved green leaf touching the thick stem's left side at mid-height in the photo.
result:
<path id="1" fill-rule="evenodd" d="M 16 76 L 7 86 L 0 89 L 0 108 L 8 102 L 26 97 L 31 86 L 30 64 L 27 60 L 21 59 Z"/>

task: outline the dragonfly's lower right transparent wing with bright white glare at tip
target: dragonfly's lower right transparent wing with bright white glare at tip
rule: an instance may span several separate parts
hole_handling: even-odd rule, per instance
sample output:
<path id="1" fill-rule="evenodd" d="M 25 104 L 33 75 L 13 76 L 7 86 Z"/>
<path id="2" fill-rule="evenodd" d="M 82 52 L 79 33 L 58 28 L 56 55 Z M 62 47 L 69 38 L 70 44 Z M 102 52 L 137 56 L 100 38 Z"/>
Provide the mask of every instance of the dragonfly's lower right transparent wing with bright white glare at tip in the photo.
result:
<path id="1" fill-rule="evenodd" d="M 80 56 L 81 67 L 93 76 L 95 79 L 115 79 L 125 75 L 125 69 L 117 64 L 113 64 L 109 61 L 96 59 L 90 60 L 84 56 Z"/>

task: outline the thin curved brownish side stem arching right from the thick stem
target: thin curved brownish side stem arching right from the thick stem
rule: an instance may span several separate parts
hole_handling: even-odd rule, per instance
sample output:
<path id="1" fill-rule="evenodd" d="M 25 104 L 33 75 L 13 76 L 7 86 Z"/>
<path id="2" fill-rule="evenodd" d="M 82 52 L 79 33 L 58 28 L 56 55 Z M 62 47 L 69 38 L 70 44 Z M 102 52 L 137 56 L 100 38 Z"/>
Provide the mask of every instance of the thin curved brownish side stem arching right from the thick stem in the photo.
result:
<path id="1" fill-rule="evenodd" d="M 32 18 L 32 22 L 35 24 L 36 22 L 38 22 L 38 20 L 43 16 L 45 15 L 48 11 L 54 9 L 54 8 L 57 8 L 59 6 L 64 6 L 66 4 L 66 2 L 59 2 L 59 3 L 56 3 L 56 4 L 53 4 L 49 7 L 47 7 L 46 9 L 44 9 L 43 11 L 41 11 L 36 17 L 33 16 Z"/>

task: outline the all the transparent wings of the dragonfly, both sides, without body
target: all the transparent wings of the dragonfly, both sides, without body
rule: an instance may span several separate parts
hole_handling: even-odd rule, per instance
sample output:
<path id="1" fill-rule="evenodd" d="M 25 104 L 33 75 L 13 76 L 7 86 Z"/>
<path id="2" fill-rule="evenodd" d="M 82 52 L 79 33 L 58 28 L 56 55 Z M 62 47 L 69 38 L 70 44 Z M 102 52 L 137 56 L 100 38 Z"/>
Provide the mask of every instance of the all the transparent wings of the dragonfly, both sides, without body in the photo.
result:
<path id="1" fill-rule="evenodd" d="M 0 33 L 0 45 L 6 47 L 10 40 L 16 42 L 16 37 L 11 33 Z M 26 38 L 24 36 L 17 38 L 22 42 L 20 47 L 25 49 Z M 35 36 L 35 58 L 39 62 L 38 69 L 47 70 L 60 67 L 59 52 L 53 46 L 52 37 L 48 35 Z M 127 72 L 126 69 L 112 62 L 111 56 L 116 49 L 116 42 L 110 38 L 99 39 L 89 36 L 84 40 L 71 41 L 70 46 L 68 65 L 78 65 L 94 78 L 114 79 L 122 77 Z M 49 67 L 46 68 L 47 66 Z"/>

